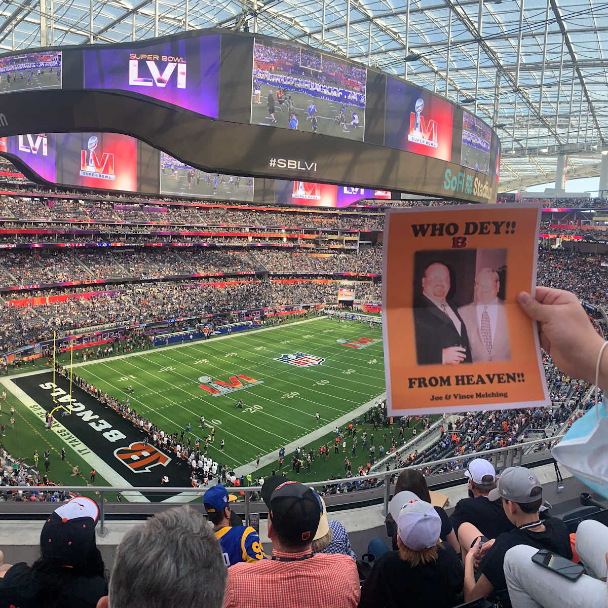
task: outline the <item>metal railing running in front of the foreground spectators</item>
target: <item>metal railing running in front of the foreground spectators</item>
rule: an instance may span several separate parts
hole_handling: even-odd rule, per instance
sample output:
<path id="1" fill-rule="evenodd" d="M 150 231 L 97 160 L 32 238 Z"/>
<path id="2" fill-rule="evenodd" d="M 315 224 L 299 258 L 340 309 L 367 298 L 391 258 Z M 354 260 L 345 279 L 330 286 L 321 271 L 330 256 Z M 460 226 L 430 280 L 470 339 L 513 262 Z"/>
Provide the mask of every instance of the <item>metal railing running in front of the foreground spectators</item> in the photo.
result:
<path id="1" fill-rule="evenodd" d="M 357 491 L 337 493 L 337 494 L 324 494 L 325 503 L 328 510 L 338 510 L 339 508 L 353 508 L 362 506 L 362 504 L 373 504 L 382 503 L 382 513 L 385 515 L 389 511 L 389 501 L 391 497 L 392 477 L 397 477 L 402 471 L 407 469 L 423 469 L 426 467 L 434 467 L 446 465 L 448 463 L 454 463 L 459 461 L 470 460 L 471 458 L 487 458 L 491 461 L 492 465 L 496 469 L 497 473 L 500 473 L 505 468 L 510 466 L 540 466 L 552 461 L 551 454 L 547 450 L 544 450 L 534 455 L 534 457 L 526 457 L 525 451 L 530 446 L 536 446 L 537 444 L 547 444 L 549 441 L 554 445 L 557 441 L 564 437 L 561 435 L 554 435 L 553 437 L 547 437 L 542 440 L 526 441 L 525 443 L 518 443 L 509 447 L 500 447 L 497 449 L 485 450 L 482 452 L 472 452 L 469 454 L 461 454 L 458 456 L 451 456 L 448 458 L 442 458 L 441 460 L 432 460 L 420 465 L 413 465 L 401 469 L 391 469 L 389 471 L 375 472 L 370 475 L 361 475 L 358 477 L 345 477 L 340 479 L 330 479 L 319 482 L 307 482 L 302 481 L 304 485 L 313 488 L 331 488 L 331 486 L 337 486 L 342 484 L 354 484 L 356 482 L 369 482 L 370 480 L 376 480 L 376 485 L 373 488 L 359 489 Z M 465 477 L 462 475 L 463 467 L 457 471 L 447 471 L 444 473 L 435 473 L 427 477 L 427 485 L 429 488 L 441 488 L 446 486 L 458 485 L 464 482 Z M 289 474 L 289 472 L 286 472 Z M 210 486 L 211 487 L 211 486 Z M 6 489 L 4 489 L 6 488 Z M 119 486 L 0 486 L 0 492 L 2 491 L 22 491 L 22 492 L 95 492 L 98 493 L 98 502 L 100 510 L 100 527 L 98 534 L 105 536 L 106 530 L 106 511 L 111 508 L 111 516 L 120 516 L 124 519 L 125 516 L 131 516 L 135 519 L 139 517 L 146 517 L 152 513 L 157 513 L 161 510 L 175 506 L 178 502 L 106 502 L 106 496 L 108 494 L 117 494 L 120 492 L 122 496 L 128 496 L 129 494 L 145 495 L 145 494 L 164 494 L 174 496 L 176 494 L 184 495 L 183 502 L 190 502 L 204 496 L 204 492 L 209 488 L 173 488 L 173 487 L 139 487 L 134 488 L 130 486 L 128 488 L 122 488 Z M 247 486 L 247 487 L 227 487 L 231 493 L 237 493 L 243 496 L 243 502 L 233 502 L 234 510 L 237 513 L 243 514 L 246 525 L 249 525 L 250 515 L 252 513 L 266 514 L 268 509 L 266 505 L 261 501 L 257 500 L 258 493 L 261 490 L 260 486 Z M 188 496 L 189 495 L 189 496 Z M 15 507 L 18 506 L 18 509 Z M 5 502 L 0 503 L 0 517 L 8 519 L 9 516 L 22 517 L 24 514 L 30 516 L 39 515 L 47 516 L 57 506 L 57 503 L 43 502 L 43 503 L 29 503 L 27 506 L 22 503 L 16 502 Z M 204 511 L 202 503 L 193 505 Z"/>

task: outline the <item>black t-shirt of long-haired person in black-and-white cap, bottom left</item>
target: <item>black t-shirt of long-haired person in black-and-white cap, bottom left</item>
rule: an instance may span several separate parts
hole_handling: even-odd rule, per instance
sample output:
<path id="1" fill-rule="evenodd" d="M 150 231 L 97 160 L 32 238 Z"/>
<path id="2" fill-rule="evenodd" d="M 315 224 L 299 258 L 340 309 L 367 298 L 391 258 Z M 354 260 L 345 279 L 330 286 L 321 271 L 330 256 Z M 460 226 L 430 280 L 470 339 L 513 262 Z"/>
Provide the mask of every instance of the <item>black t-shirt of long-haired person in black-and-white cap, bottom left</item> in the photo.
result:
<path id="1" fill-rule="evenodd" d="M 40 597 L 55 599 L 56 605 L 61 608 L 95 608 L 98 599 L 108 595 L 108 583 L 101 576 L 75 576 L 67 581 L 69 582 L 63 585 L 58 598 L 48 598 L 45 593 L 54 589 L 53 581 L 25 562 L 19 562 L 0 579 L 0 608 L 9 608 L 11 605 L 18 608 L 41 608 L 47 604 Z"/>

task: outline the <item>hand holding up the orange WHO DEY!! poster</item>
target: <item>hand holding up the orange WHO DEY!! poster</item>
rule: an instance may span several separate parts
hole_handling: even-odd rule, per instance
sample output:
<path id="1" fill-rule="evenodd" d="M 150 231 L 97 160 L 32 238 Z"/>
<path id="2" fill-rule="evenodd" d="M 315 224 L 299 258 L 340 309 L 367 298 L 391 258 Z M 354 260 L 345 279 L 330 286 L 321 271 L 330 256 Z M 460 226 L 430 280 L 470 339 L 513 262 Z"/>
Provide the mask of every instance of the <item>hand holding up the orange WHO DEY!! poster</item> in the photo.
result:
<path id="1" fill-rule="evenodd" d="M 593 329 L 576 295 L 562 289 L 537 287 L 536 297 L 525 291 L 517 296 L 523 311 L 537 321 L 541 347 L 561 371 L 572 378 L 595 382 L 595 365 L 603 339 Z M 603 366 L 608 388 L 608 365 Z"/>

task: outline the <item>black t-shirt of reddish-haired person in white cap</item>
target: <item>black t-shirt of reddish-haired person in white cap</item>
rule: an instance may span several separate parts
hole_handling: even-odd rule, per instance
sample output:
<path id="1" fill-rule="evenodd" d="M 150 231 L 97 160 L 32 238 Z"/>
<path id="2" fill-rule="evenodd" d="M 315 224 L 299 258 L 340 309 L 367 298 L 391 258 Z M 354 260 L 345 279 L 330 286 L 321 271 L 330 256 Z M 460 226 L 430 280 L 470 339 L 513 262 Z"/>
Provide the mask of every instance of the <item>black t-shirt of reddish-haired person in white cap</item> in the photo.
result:
<path id="1" fill-rule="evenodd" d="M 437 561 L 412 567 L 387 551 L 361 587 L 359 608 L 449 608 L 461 602 L 464 569 L 454 549 L 440 546 Z"/>

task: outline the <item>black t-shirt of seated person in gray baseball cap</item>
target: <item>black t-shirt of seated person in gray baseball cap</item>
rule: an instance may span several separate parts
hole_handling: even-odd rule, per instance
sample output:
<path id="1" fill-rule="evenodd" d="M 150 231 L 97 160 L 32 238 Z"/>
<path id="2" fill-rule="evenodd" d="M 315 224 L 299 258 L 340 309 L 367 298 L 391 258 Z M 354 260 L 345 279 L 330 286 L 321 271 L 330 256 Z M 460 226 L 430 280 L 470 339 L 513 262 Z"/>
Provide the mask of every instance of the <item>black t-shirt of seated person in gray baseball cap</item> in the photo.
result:
<path id="1" fill-rule="evenodd" d="M 485 574 L 488 581 L 492 583 L 494 590 L 499 591 L 506 588 L 503 562 L 505 553 L 517 545 L 528 545 L 537 549 L 548 549 L 561 555 L 562 558 L 572 559 L 572 546 L 570 545 L 570 534 L 565 523 L 557 517 L 549 517 L 544 523 L 544 532 L 533 532 L 534 528 L 518 530 L 513 528 L 510 532 L 500 534 L 494 545 L 489 548 L 488 553 L 479 565 L 479 573 Z"/>

